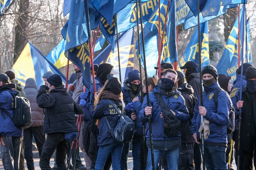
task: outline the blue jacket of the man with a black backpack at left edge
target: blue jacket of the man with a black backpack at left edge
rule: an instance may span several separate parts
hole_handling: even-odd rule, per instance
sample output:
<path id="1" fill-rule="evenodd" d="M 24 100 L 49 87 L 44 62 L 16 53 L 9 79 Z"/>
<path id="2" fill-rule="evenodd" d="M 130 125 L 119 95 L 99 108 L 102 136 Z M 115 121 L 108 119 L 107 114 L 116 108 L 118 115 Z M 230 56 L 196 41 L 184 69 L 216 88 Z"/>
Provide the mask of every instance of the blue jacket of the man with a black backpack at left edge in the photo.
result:
<path id="1" fill-rule="evenodd" d="M 12 94 L 15 96 L 19 94 L 15 89 L 15 84 L 7 84 L 0 87 L 0 136 L 22 136 L 22 130 L 16 127 L 12 120 L 3 111 L 3 109 L 5 109 L 13 116 L 14 97 Z M 6 119 L 4 119 L 3 115 L 5 115 Z"/>

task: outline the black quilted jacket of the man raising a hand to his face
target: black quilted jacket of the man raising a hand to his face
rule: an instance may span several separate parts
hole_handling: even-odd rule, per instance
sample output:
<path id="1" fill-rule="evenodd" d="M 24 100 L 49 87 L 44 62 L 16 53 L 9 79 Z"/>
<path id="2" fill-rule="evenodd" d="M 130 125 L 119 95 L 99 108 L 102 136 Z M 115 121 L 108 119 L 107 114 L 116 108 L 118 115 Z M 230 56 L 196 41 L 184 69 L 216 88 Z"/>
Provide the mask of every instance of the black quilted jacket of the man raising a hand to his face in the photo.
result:
<path id="1" fill-rule="evenodd" d="M 46 94 L 46 86 L 38 90 L 36 101 L 40 108 L 45 108 L 44 133 L 78 132 L 75 113 L 82 114 L 83 109 L 77 105 L 67 93 L 67 89 L 60 85 Z"/>

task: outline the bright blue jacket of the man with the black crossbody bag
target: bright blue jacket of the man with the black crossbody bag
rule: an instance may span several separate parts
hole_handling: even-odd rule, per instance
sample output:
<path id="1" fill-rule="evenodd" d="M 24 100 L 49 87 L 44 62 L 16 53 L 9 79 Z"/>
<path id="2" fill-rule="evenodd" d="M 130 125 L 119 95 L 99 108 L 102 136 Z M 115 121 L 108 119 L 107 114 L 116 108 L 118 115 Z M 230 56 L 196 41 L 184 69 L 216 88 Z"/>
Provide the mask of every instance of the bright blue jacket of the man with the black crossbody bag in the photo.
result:
<path id="1" fill-rule="evenodd" d="M 160 118 L 160 113 L 162 112 L 160 105 L 158 104 L 158 98 L 154 95 L 154 92 L 159 93 L 158 85 L 154 87 L 154 90 L 151 91 L 148 95 L 149 97 L 149 106 L 152 107 L 151 117 L 151 126 L 152 126 L 152 139 L 167 141 L 167 140 L 177 140 L 180 139 L 181 133 L 179 132 L 174 136 L 166 136 L 164 133 L 163 119 Z M 189 121 L 189 112 L 185 105 L 185 99 L 181 96 L 180 92 L 175 90 L 175 94 L 171 97 L 167 97 L 165 94 L 162 94 L 163 100 L 170 110 L 176 113 L 177 119 L 181 123 L 186 123 Z M 145 116 L 145 107 L 147 107 L 147 96 L 144 97 L 142 108 L 140 111 L 139 118 L 141 122 L 148 122 L 148 117 Z M 146 125 L 146 138 L 149 140 L 149 129 L 148 124 Z"/>

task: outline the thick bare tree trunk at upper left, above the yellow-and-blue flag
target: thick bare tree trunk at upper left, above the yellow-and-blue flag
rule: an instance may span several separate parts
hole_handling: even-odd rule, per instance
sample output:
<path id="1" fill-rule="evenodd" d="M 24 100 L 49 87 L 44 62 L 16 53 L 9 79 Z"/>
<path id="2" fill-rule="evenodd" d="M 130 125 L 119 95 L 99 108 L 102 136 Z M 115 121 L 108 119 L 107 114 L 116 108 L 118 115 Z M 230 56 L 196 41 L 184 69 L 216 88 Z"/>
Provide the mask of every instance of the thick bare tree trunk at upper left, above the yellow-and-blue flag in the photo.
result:
<path id="1" fill-rule="evenodd" d="M 29 0 L 19 1 L 19 16 L 17 25 L 15 26 L 15 45 L 14 45 L 14 56 L 13 63 L 16 62 L 17 58 L 20 56 L 21 51 L 26 45 L 26 26 L 27 26 L 27 14 L 29 8 Z"/>

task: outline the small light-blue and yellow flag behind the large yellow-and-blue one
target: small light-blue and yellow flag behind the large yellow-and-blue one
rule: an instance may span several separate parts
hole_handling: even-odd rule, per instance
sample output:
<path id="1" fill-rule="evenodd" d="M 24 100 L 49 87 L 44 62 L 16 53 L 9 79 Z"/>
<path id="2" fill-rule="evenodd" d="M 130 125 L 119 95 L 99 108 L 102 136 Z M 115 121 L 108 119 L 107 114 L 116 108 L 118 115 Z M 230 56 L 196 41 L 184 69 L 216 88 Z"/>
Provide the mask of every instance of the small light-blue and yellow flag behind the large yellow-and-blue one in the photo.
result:
<path id="1" fill-rule="evenodd" d="M 58 43 L 58 45 L 53 48 L 53 50 L 46 56 L 46 58 L 49 59 L 49 61 L 57 68 L 61 68 L 67 65 L 67 58 L 64 55 L 65 45 L 66 41 L 64 39 L 61 40 L 61 42 Z M 71 63 L 72 62 L 70 62 L 70 64 Z"/>

